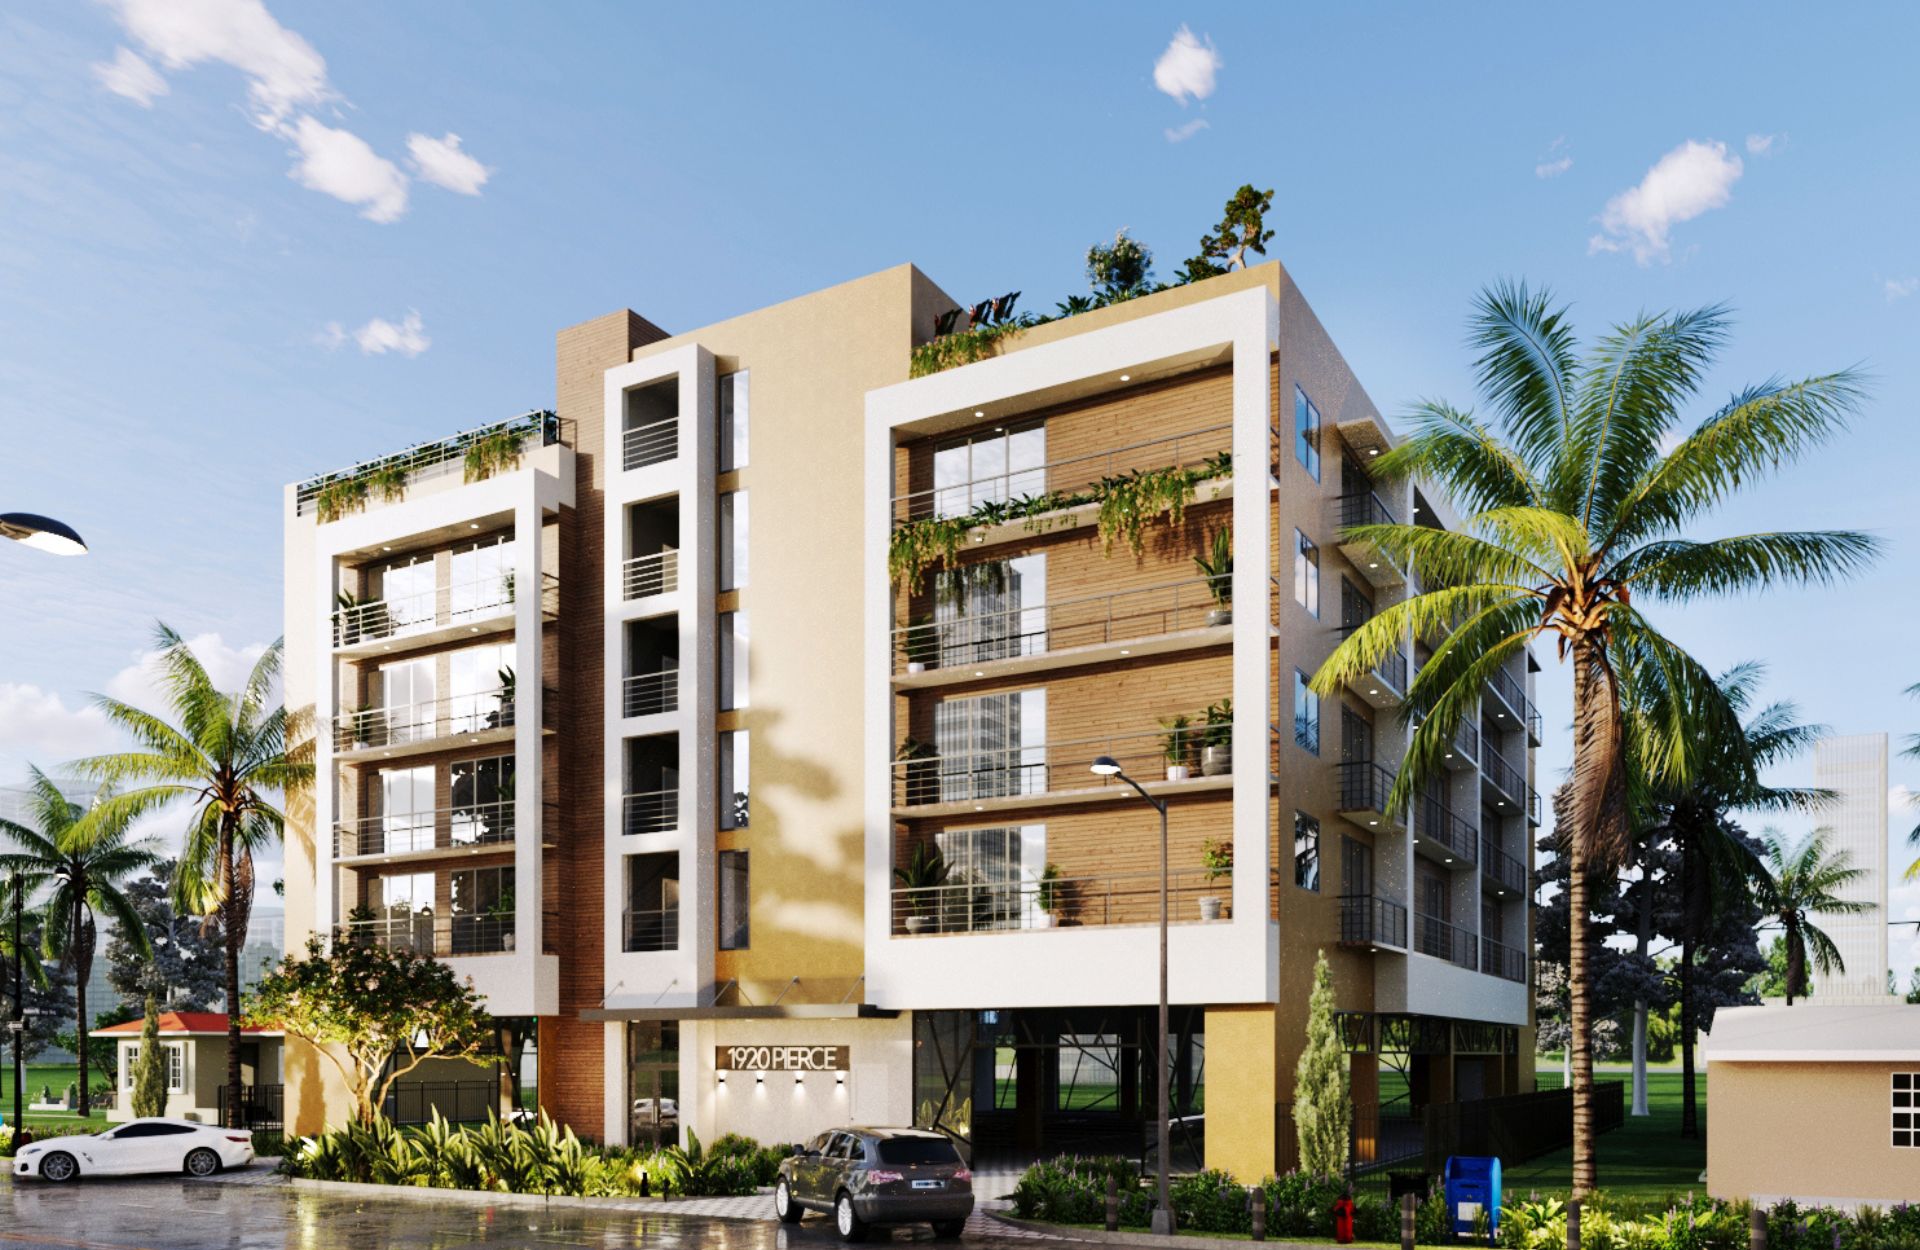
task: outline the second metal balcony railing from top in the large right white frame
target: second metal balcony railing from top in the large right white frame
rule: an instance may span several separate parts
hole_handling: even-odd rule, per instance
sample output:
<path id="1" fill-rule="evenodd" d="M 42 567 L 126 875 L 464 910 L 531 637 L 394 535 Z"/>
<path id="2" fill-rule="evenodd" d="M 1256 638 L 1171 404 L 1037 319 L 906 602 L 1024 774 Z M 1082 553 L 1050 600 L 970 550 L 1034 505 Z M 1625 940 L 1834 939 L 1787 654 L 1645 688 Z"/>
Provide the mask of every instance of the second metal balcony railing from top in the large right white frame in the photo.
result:
<path id="1" fill-rule="evenodd" d="M 1206 578 L 1037 603 L 1002 613 L 966 613 L 893 630 L 895 672 L 964 668 L 1069 647 L 1198 630 L 1217 605 Z"/>

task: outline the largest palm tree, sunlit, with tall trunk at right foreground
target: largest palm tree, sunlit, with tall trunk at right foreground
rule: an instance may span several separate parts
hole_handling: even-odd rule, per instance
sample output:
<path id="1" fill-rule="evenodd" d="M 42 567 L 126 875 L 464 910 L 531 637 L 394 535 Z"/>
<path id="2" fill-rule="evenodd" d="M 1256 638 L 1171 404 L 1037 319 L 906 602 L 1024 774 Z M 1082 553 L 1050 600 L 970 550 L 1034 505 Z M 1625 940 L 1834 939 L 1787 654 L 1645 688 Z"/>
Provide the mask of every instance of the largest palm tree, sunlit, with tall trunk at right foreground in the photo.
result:
<path id="1" fill-rule="evenodd" d="M 1726 311 L 1640 315 L 1574 355 L 1565 309 L 1524 286 L 1482 292 L 1473 317 L 1478 384 L 1494 411 L 1427 401 L 1415 434 L 1373 461 L 1384 478 L 1417 476 L 1461 509 L 1463 530 L 1354 526 L 1411 565 L 1425 593 L 1356 630 L 1313 676 L 1332 695 L 1411 634 L 1438 639 L 1402 716 L 1417 722 L 1390 803 L 1444 766 L 1461 718 L 1492 674 L 1534 637 L 1572 661 L 1572 820 L 1557 829 L 1571 860 L 1569 954 L 1574 1087 L 1572 1190 L 1594 1189 L 1594 1056 L 1588 1033 L 1588 874 L 1617 870 L 1630 803 L 1645 785 L 1680 785 L 1699 741 L 1738 735 L 1724 695 L 1644 613 L 1686 601 L 1832 582 L 1878 545 L 1862 534 L 1770 532 L 1692 541 L 1705 511 L 1841 432 L 1862 399 L 1851 371 L 1768 380 L 1734 394 L 1690 434 L 1670 438 L 1726 340 Z M 1636 599 L 1640 603 L 1636 603 Z M 1622 714 L 1622 685 L 1642 714 Z M 1628 776 L 1628 739 L 1638 770 Z"/>

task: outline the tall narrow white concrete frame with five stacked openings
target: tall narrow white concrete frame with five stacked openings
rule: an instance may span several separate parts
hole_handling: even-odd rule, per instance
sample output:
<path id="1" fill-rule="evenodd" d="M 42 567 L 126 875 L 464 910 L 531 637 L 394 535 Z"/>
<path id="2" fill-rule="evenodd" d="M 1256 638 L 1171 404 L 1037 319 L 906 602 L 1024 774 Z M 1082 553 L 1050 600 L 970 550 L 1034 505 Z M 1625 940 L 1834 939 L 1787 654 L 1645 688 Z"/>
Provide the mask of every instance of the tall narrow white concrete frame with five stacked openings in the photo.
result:
<path id="1" fill-rule="evenodd" d="M 622 419 L 626 392 L 678 378 L 680 428 L 678 455 L 643 469 L 624 469 Z M 714 357 L 697 344 L 649 355 L 607 371 L 605 380 L 605 985 L 601 1006 L 693 1006 L 710 997 L 714 966 L 714 829 L 718 799 L 714 776 L 712 724 L 718 703 L 718 384 Z M 674 499 L 680 515 L 678 586 L 662 595 L 622 599 L 628 551 L 628 509 L 636 503 Z M 674 616 L 680 634 L 678 707 L 655 716 L 622 716 L 626 680 L 626 624 L 655 616 Z M 676 826 L 668 833 L 624 833 L 622 795 L 626 791 L 626 741 L 655 733 L 678 733 L 680 803 Z M 674 853 L 680 856 L 680 941 L 676 950 L 628 952 L 626 856 Z M 605 1025 L 605 1139 L 626 1142 L 626 1025 Z M 682 1089 L 689 1081 L 689 1058 L 682 1060 Z"/>

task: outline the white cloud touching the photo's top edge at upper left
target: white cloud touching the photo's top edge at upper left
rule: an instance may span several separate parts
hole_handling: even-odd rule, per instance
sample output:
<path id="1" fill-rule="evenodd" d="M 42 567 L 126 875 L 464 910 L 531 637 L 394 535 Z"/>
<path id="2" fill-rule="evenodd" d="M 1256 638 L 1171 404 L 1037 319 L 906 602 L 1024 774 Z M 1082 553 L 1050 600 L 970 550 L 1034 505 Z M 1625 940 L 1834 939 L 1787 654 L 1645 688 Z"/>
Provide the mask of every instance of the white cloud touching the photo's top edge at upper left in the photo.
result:
<path id="1" fill-rule="evenodd" d="M 217 61 L 246 75 L 261 129 L 278 129 L 296 108 L 334 98 L 326 58 L 275 21 L 261 0 L 108 0 L 108 8 L 127 36 L 167 69 Z"/>

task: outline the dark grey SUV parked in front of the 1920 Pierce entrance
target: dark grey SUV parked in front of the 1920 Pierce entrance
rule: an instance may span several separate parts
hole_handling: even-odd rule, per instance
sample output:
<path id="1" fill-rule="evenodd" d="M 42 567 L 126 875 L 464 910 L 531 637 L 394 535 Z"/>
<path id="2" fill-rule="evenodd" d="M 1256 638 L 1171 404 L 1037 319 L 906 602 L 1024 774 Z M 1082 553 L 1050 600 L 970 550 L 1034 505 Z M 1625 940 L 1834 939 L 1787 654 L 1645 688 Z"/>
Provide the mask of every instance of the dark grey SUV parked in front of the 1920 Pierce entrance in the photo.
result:
<path id="1" fill-rule="evenodd" d="M 780 1164 L 774 1212 L 781 1223 L 829 1212 L 841 1240 L 895 1223 L 931 1223 L 935 1237 L 950 1238 L 973 1214 L 973 1173 L 939 1133 L 833 1129 Z"/>

